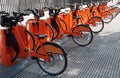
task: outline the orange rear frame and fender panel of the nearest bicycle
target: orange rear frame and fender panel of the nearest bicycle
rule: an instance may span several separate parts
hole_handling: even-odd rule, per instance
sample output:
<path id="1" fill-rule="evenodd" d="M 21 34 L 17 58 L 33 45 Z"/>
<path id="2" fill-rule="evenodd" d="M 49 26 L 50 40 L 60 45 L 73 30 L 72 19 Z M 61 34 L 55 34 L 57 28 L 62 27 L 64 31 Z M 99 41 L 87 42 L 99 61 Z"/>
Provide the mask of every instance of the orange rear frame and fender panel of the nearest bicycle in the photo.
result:
<path id="1" fill-rule="evenodd" d="M 30 56 L 36 57 L 36 58 L 42 58 L 44 60 L 47 60 L 48 62 L 51 62 L 51 59 L 47 52 L 52 52 L 54 54 L 63 54 L 58 48 L 53 48 L 51 45 L 43 46 L 43 42 L 41 40 L 38 40 L 36 42 L 36 45 L 32 51 L 30 51 Z M 40 53 L 36 53 L 38 47 L 40 47 Z"/>

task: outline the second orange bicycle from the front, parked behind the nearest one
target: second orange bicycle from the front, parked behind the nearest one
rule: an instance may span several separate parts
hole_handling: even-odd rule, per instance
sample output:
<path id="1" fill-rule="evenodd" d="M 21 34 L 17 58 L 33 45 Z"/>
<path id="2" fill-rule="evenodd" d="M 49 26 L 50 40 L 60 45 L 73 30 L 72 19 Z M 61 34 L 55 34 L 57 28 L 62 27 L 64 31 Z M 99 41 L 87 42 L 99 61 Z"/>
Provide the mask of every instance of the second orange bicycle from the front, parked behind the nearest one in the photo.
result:
<path id="1" fill-rule="evenodd" d="M 67 14 L 65 12 L 60 13 L 62 8 L 45 8 L 49 10 L 52 22 L 55 23 L 55 26 L 52 27 L 56 27 L 54 29 L 57 29 L 56 31 L 60 36 L 63 34 L 71 36 L 73 41 L 79 46 L 86 46 L 92 42 L 92 30 L 85 24 L 79 24 L 78 19 L 80 18 L 73 16 L 72 10 L 69 12 L 71 18 L 68 18 L 68 20 L 72 21 L 71 26 L 67 26 L 66 21 L 62 19 L 62 17 L 67 16 Z"/>

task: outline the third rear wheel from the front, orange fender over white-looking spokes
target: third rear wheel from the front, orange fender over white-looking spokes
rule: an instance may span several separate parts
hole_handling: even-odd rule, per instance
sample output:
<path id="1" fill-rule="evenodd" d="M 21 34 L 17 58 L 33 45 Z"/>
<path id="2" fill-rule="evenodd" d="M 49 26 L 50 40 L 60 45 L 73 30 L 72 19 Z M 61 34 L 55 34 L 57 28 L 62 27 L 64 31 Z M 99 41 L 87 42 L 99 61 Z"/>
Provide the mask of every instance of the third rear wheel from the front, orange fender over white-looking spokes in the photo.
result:
<path id="1" fill-rule="evenodd" d="M 104 21 L 102 20 L 101 17 L 92 17 L 91 19 L 88 20 L 89 27 L 94 33 L 99 33 L 103 30 L 104 28 Z M 95 25 L 94 25 L 95 23 Z"/>

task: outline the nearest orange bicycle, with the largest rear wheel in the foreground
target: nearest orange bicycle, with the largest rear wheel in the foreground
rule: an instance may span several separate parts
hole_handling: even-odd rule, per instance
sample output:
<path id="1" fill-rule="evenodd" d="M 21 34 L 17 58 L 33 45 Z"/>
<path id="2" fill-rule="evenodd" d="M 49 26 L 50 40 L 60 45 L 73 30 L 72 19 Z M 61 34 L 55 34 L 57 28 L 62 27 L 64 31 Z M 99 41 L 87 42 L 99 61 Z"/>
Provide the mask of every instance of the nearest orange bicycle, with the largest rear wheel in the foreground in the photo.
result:
<path id="1" fill-rule="evenodd" d="M 10 16 L 10 15 L 4 16 L 4 20 L 8 19 L 13 22 L 14 25 L 9 23 L 11 26 L 17 26 L 16 24 L 19 21 L 19 19 L 26 14 L 17 13 L 17 16 L 16 14 L 14 15 L 15 16 Z M 7 26 L 8 21 L 4 21 L 2 23 L 4 23 L 4 25 Z M 43 35 L 40 35 L 37 33 L 34 34 L 38 39 L 37 41 L 34 40 L 33 35 L 29 31 L 26 34 L 27 34 L 27 37 L 25 38 L 28 41 L 28 43 L 27 45 L 24 44 L 24 49 L 25 49 L 24 51 L 28 52 L 29 56 L 32 59 L 37 61 L 39 67 L 49 75 L 59 75 L 63 73 L 67 67 L 67 54 L 65 53 L 65 50 L 63 49 L 63 47 L 61 47 L 59 44 L 55 42 L 43 42 L 42 39 L 47 37 L 47 35 L 45 34 Z M 30 39 L 33 41 L 32 49 L 30 49 L 29 47 L 31 46 L 29 41 Z"/>

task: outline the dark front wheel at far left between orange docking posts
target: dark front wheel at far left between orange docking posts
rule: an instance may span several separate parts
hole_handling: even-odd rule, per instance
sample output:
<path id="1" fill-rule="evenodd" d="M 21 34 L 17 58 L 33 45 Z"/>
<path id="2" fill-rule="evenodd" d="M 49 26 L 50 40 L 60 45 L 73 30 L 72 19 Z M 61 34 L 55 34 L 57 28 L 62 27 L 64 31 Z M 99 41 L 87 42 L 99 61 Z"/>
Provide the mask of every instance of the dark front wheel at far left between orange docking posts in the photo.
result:
<path id="1" fill-rule="evenodd" d="M 12 46 L 13 49 L 15 50 L 15 53 L 12 53 L 11 59 L 10 59 L 11 62 L 14 62 L 17 59 L 17 57 L 20 53 L 20 47 L 19 47 L 18 41 L 17 41 L 17 39 L 16 39 L 16 37 L 14 36 L 13 33 L 7 34 L 6 44 L 7 44 L 7 47 Z"/>

